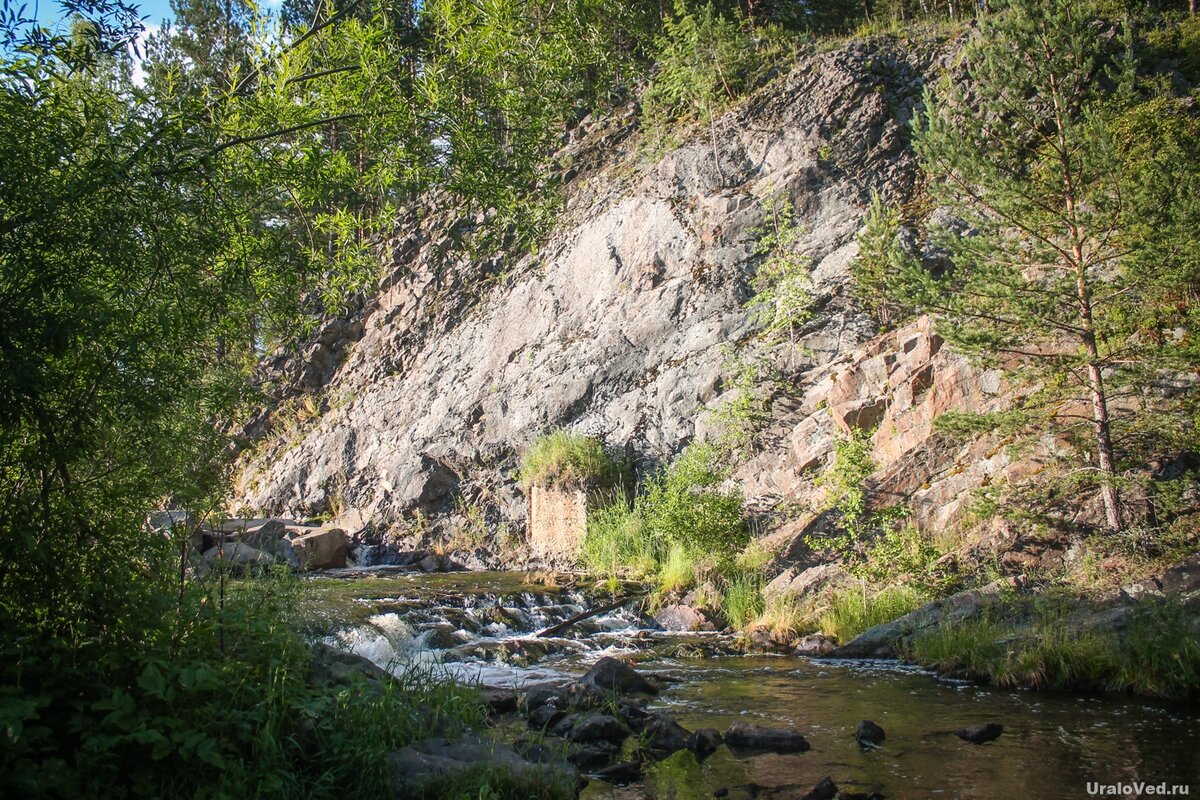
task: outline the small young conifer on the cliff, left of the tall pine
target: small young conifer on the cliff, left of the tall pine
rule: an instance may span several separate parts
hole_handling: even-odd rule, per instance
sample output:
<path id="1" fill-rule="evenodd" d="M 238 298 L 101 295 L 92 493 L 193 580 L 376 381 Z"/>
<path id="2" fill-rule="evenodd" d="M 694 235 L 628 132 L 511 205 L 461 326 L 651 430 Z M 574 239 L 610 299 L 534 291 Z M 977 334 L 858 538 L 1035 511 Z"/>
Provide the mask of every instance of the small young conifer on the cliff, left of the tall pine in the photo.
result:
<path id="1" fill-rule="evenodd" d="M 902 227 L 899 207 L 887 204 L 878 192 L 871 192 L 850 275 L 854 279 L 854 296 L 882 329 L 904 319 L 904 309 L 895 302 L 899 294 L 893 285 L 895 277 L 920 266 L 900 245 Z"/>

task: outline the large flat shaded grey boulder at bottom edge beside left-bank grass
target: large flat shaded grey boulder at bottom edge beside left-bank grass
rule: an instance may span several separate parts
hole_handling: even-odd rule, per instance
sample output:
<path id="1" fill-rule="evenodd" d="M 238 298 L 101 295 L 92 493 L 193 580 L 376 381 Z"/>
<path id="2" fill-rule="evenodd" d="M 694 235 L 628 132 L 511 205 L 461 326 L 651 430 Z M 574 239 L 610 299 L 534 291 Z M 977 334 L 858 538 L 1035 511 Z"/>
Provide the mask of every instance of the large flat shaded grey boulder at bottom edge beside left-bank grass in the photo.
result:
<path id="1" fill-rule="evenodd" d="M 407 793 L 418 793 L 432 781 L 476 769 L 509 772 L 532 782 L 574 786 L 578 780 L 578 772 L 570 764 L 530 762 L 509 745 L 478 736 L 457 741 L 427 739 L 394 752 L 389 762 L 396 783 Z"/>

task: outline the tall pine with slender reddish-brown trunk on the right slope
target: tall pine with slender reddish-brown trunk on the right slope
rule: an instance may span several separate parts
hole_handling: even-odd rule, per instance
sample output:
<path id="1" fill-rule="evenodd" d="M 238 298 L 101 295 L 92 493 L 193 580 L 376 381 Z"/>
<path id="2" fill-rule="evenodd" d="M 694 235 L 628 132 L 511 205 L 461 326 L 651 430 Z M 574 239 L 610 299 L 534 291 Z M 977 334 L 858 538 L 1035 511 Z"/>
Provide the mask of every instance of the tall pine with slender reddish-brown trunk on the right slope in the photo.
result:
<path id="1" fill-rule="evenodd" d="M 1106 527 L 1120 530 L 1115 428 L 1163 366 L 1129 324 L 1152 276 L 1123 267 L 1130 231 L 1165 210 L 1123 192 L 1105 124 L 1122 53 L 1106 47 L 1074 0 L 1010 0 L 982 20 L 970 80 L 928 94 L 916 134 L 936 199 L 971 231 L 942 231 L 953 273 L 910 270 L 908 291 L 952 344 L 1033 387 L 1027 419 L 1088 432 Z"/>

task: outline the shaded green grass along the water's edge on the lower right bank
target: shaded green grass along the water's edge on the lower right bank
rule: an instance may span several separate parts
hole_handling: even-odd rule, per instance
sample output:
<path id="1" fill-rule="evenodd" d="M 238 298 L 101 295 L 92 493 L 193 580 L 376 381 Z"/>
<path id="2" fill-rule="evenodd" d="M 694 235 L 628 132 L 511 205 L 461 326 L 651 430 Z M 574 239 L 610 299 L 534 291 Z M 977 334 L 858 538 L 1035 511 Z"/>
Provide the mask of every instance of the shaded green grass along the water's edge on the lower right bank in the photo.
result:
<path id="1" fill-rule="evenodd" d="M 1124 633 L 1084 631 L 1045 602 L 1028 625 L 976 620 L 942 626 L 905 648 L 906 657 L 942 672 L 997 686 L 1109 690 L 1168 699 L 1200 691 L 1200 640 L 1193 613 L 1144 602 L 1129 612 Z"/>

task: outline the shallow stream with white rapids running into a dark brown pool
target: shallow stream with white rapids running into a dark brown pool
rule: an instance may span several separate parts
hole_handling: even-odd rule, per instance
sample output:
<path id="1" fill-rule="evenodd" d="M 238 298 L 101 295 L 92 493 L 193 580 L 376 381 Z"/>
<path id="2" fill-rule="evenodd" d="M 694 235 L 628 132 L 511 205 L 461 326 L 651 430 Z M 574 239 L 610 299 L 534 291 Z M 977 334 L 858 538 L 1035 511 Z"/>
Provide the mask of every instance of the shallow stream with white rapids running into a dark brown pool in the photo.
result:
<path id="1" fill-rule="evenodd" d="M 625 656 L 666 686 L 653 705 L 689 729 L 754 722 L 794 728 L 812 745 L 792 756 L 722 747 L 703 763 L 680 752 L 648 766 L 638 784 L 594 781 L 584 798 L 802 798 L 826 776 L 842 790 L 892 800 L 1087 798 L 1090 783 L 1130 784 L 1116 796 L 1139 796 L 1133 786 L 1139 782 L 1154 788 L 1165 782 L 1168 796 L 1175 786 L 1200 796 L 1195 708 L 996 690 L 896 662 L 744 656 L 732 637 L 655 631 L 629 609 L 580 622 L 560 637 L 536 638 L 602 600 L 527 585 L 514 575 L 318 583 L 324 601 L 342 609 L 332 638 L 380 666 L 438 664 L 461 680 L 523 686 L 576 676 L 605 655 Z M 859 720 L 887 730 L 882 747 L 858 747 Z M 979 722 L 1000 722 L 1004 733 L 983 746 L 949 733 Z M 1183 790 L 1175 796 L 1186 796 Z"/>

